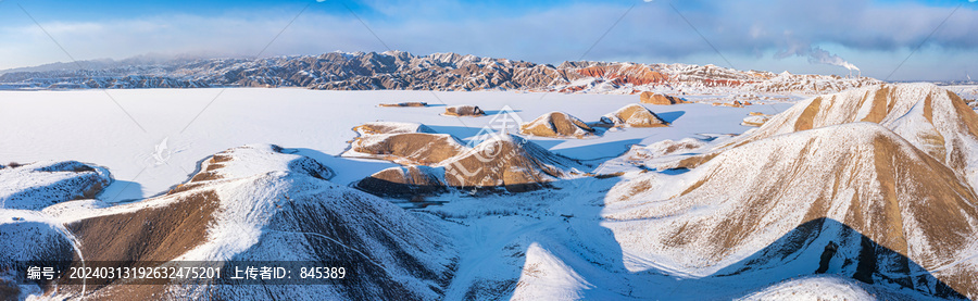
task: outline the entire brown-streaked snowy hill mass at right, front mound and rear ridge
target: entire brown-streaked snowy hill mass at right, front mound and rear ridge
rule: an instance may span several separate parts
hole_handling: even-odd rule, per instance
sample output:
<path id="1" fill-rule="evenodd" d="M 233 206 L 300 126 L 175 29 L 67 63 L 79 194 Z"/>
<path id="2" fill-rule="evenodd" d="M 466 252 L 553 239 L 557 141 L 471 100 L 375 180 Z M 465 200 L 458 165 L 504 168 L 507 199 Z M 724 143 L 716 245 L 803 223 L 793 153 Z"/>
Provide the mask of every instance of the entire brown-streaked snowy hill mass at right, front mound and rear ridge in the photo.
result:
<path id="1" fill-rule="evenodd" d="M 769 280 L 827 273 L 976 298 L 976 120 L 933 85 L 820 96 L 670 159 L 697 159 L 689 172 L 630 173 L 603 216 L 625 253 L 655 259 L 632 269 Z"/>

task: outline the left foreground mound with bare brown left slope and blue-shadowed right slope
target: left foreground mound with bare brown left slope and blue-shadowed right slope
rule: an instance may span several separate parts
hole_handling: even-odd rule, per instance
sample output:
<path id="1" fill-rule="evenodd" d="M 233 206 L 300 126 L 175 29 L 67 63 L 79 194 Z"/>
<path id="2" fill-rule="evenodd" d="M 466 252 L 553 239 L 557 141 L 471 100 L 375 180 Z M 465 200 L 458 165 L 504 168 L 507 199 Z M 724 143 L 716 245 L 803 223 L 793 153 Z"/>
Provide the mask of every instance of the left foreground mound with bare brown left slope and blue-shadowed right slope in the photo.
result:
<path id="1" fill-rule="evenodd" d="M 110 284 L 89 288 L 89 297 L 439 298 L 453 256 L 439 225 L 329 183 L 328 168 L 288 152 L 269 145 L 235 148 L 204 160 L 201 172 L 164 196 L 109 208 L 65 202 L 45 213 L 77 237 L 86 261 L 301 260 L 343 263 L 355 275 L 329 286 Z M 79 289 L 58 293 L 82 298 Z"/>

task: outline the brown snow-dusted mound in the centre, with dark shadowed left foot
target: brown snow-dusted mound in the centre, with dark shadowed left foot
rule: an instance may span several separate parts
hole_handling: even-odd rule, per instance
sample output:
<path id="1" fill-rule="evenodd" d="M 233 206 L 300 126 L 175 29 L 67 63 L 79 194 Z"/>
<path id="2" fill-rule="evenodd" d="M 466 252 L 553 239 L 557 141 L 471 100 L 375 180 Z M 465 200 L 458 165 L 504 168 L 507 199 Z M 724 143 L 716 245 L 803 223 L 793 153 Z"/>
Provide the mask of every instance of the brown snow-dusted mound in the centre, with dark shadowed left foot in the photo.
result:
<path id="1" fill-rule="evenodd" d="M 512 135 L 494 135 L 459 155 L 431 165 L 434 168 L 418 167 L 384 170 L 361 180 L 358 187 L 381 195 L 404 195 L 404 189 L 441 190 L 417 187 L 432 185 L 525 191 L 584 174 L 580 172 L 584 165 L 579 162 Z"/>

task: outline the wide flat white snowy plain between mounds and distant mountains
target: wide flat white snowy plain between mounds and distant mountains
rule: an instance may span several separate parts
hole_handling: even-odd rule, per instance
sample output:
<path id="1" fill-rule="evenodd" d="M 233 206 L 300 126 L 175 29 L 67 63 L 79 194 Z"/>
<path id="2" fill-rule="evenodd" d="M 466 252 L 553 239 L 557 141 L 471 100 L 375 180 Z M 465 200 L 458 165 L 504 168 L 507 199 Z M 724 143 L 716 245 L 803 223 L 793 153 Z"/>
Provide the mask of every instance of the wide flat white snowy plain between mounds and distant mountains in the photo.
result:
<path id="1" fill-rule="evenodd" d="M 122 202 L 165 192 L 216 152 L 248 143 L 300 149 L 337 172 L 348 185 L 394 164 L 341 158 L 354 126 L 366 122 L 422 123 L 465 141 L 509 106 L 529 122 L 563 111 L 585 122 L 630 103 L 637 95 L 565 95 L 519 91 L 323 91 L 306 89 L 131 89 L 0 92 L 0 164 L 76 160 L 103 166 L 115 179 L 98 199 Z M 427 102 L 427 108 L 380 103 Z M 446 105 L 474 104 L 482 117 L 443 116 Z M 776 114 L 791 103 L 715 106 L 644 104 L 670 127 L 625 128 L 591 139 L 530 140 L 580 160 L 617 156 L 631 145 L 698 134 L 740 134 L 750 112 Z M 515 134 L 515 130 L 514 130 Z"/>

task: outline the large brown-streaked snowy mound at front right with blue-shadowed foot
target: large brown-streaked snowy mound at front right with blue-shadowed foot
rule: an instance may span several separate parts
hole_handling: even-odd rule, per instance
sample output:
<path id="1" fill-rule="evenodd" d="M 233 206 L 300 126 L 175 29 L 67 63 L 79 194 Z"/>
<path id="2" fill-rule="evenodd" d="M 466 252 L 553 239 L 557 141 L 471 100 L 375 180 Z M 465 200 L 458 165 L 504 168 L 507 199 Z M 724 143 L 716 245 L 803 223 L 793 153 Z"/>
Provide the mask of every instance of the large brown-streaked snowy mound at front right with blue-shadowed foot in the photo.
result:
<path id="1" fill-rule="evenodd" d="M 605 202 L 624 252 L 657 266 L 767 279 L 828 273 L 978 297 L 978 196 L 875 123 L 758 139 L 680 175 L 643 173 Z"/>

